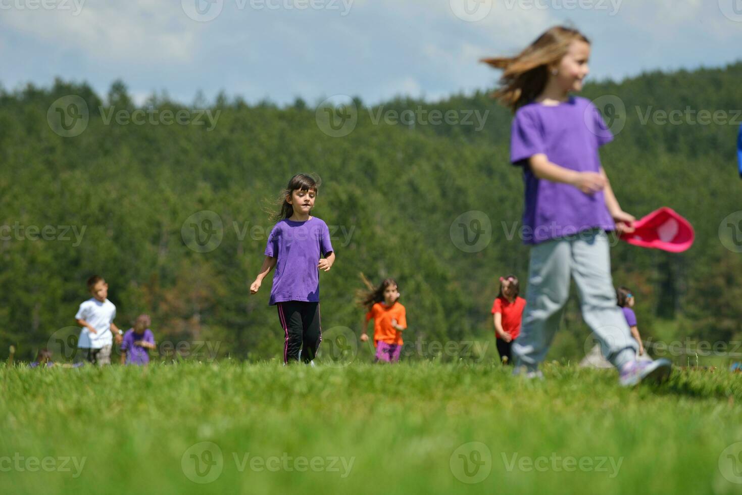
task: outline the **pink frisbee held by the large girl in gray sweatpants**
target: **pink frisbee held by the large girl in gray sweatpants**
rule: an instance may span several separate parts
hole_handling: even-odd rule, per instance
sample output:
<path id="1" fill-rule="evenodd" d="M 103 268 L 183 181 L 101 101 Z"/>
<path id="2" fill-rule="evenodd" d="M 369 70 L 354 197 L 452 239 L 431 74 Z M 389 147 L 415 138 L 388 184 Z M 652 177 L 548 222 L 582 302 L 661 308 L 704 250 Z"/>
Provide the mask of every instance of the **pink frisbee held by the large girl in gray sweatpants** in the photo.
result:
<path id="1" fill-rule="evenodd" d="M 634 232 L 621 238 L 634 246 L 683 252 L 693 245 L 695 232 L 688 220 L 663 206 L 634 222 Z"/>

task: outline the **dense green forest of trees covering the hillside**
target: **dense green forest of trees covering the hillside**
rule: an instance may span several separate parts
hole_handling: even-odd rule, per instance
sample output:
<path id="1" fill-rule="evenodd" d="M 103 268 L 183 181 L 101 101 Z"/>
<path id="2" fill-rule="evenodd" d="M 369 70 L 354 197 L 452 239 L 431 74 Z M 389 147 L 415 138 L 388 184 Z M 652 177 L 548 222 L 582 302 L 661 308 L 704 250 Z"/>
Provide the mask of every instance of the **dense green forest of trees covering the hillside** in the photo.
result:
<path id="1" fill-rule="evenodd" d="M 623 209 L 641 217 L 669 206 L 695 226 L 695 246 L 682 254 L 626 243 L 612 250 L 614 281 L 637 294 L 646 334 L 664 325 L 678 338 L 742 339 L 742 254 L 729 249 L 742 232 L 720 238 L 722 220 L 742 210 L 740 80 L 742 62 L 593 82 L 582 92 L 605 103 L 598 106 L 617 131 L 601 157 Z M 312 214 L 335 229 L 337 260 L 321 273 L 324 330 L 360 332 L 355 290 L 364 272 L 398 280 L 408 344 L 488 338 L 497 278 L 513 273 L 525 289 L 528 267 L 528 248 L 512 235 L 523 194 L 521 171 L 508 161 L 512 114 L 489 92 L 373 108 L 352 101 L 355 110 L 340 111 L 353 114 L 355 128 L 335 137 L 325 112 L 302 99 L 280 108 L 220 94 L 184 105 L 156 94 L 138 107 L 120 81 L 105 96 L 61 80 L 0 90 L 0 356 L 13 344 L 28 359 L 51 335 L 76 333 L 68 327 L 90 297 L 85 280 L 99 274 L 119 327 L 147 312 L 158 341 L 275 357 L 283 332 L 268 306 L 272 275 L 257 295 L 249 283 L 272 227 L 266 208 L 298 172 L 321 177 Z M 385 118 L 421 109 L 424 120 Z M 456 119 L 433 123 L 435 110 Z M 476 116 L 486 116 L 482 125 Z M 468 252 L 452 223 L 472 211 L 483 213 L 465 217 L 468 225 L 487 230 L 489 220 L 491 231 L 482 232 L 490 235 L 483 249 Z M 193 223 L 214 229 L 206 252 L 191 249 Z M 562 333 L 554 358 L 582 352 L 588 330 L 576 298 Z"/>

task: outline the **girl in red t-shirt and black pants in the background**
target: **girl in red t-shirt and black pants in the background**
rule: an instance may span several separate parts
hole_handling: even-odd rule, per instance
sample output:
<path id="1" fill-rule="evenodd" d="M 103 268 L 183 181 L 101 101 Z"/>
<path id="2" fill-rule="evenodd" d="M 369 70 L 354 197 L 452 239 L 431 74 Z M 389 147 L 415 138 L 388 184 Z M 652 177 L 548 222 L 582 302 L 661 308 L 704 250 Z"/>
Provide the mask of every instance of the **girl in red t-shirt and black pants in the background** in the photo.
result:
<path id="1" fill-rule="evenodd" d="M 525 299 L 518 297 L 519 294 L 520 283 L 514 275 L 500 277 L 500 292 L 492 304 L 492 315 L 497 337 L 497 352 L 503 364 L 513 360 L 510 347 L 520 334 Z"/>

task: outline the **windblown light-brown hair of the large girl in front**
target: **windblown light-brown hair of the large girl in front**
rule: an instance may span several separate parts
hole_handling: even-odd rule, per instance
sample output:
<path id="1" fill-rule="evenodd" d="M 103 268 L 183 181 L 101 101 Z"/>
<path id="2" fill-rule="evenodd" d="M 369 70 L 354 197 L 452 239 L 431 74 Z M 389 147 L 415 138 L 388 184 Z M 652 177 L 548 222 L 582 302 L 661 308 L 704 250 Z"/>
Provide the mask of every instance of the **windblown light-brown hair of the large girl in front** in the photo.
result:
<path id="1" fill-rule="evenodd" d="M 546 88 L 548 66 L 559 62 L 566 55 L 570 43 L 575 40 L 590 44 L 580 31 L 571 27 L 554 26 L 516 56 L 481 59 L 479 62 L 503 71 L 499 80 L 500 87 L 492 94 L 493 98 L 499 99 L 513 112 L 532 102 Z"/>

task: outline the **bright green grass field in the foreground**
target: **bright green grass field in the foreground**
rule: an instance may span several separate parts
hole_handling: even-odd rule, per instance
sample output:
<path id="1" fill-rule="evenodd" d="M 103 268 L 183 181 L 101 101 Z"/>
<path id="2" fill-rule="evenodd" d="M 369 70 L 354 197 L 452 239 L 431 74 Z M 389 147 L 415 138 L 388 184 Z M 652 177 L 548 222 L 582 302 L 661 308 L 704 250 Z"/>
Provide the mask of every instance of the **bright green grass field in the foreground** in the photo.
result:
<path id="1" fill-rule="evenodd" d="M 544 372 L 0 365 L 0 493 L 742 492 L 741 375 Z"/>

